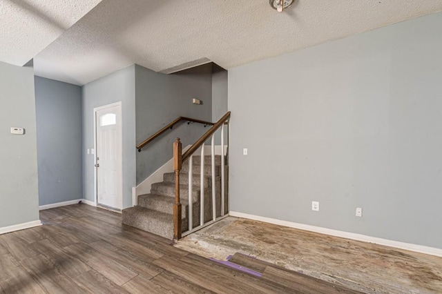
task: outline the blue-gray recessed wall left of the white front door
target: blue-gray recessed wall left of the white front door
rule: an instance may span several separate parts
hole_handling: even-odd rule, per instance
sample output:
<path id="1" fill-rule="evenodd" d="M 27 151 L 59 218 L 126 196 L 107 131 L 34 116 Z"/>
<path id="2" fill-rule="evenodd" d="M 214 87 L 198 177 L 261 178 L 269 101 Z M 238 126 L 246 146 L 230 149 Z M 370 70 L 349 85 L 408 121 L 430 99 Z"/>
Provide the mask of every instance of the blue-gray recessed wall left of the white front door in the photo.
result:
<path id="1" fill-rule="evenodd" d="M 39 204 L 83 198 L 81 87 L 35 77 Z"/>

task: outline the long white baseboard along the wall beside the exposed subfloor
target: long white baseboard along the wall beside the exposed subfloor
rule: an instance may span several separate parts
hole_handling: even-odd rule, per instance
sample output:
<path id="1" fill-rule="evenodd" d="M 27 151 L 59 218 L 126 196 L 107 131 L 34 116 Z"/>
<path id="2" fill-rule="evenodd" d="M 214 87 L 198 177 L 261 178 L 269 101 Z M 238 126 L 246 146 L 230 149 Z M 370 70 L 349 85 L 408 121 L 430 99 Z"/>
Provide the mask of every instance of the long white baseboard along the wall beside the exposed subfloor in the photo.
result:
<path id="1" fill-rule="evenodd" d="M 260 217 L 258 215 L 249 215 L 247 213 L 238 213 L 236 211 L 230 211 L 229 215 L 231 215 L 232 217 L 242 217 L 244 219 L 253 219 L 256 221 L 260 221 L 260 222 L 267 222 L 269 224 L 277 224 L 279 226 L 288 226 L 290 228 L 298 228 L 303 231 L 310 231 L 310 232 L 314 232 L 314 233 L 331 235 L 334 237 L 341 237 L 341 238 L 352 239 L 352 240 L 362 241 L 362 242 L 367 242 L 367 243 L 374 243 L 374 244 L 378 244 L 378 245 L 404 249 L 407 251 L 414 251 L 414 252 L 418 252 L 418 253 L 424 253 L 424 254 L 428 254 L 428 255 L 442 257 L 442 249 L 434 248 L 434 247 L 398 242 L 398 241 L 393 241 L 393 240 L 389 240 L 389 239 L 370 237 L 370 236 L 366 236 L 366 235 L 349 233 L 349 232 L 344 232 L 344 231 L 337 231 L 337 230 L 332 230 L 331 228 L 321 228 L 320 226 L 310 226 L 308 224 L 298 224 L 296 222 L 287 222 L 287 221 L 283 221 L 280 219 L 272 219 L 269 217 Z"/>

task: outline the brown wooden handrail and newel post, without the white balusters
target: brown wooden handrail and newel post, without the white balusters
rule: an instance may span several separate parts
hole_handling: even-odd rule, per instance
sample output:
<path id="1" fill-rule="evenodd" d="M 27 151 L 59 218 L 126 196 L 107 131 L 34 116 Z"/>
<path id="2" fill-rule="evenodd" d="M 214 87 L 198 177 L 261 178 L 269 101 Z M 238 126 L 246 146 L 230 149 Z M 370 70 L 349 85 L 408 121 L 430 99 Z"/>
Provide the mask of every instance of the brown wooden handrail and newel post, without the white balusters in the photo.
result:
<path id="1" fill-rule="evenodd" d="M 184 154 L 182 154 L 182 144 L 180 138 L 176 138 L 173 142 L 173 170 L 175 170 L 175 203 L 173 204 L 173 238 L 181 239 L 182 235 L 182 213 L 181 213 L 181 202 L 180 202 L 180 171 L 182 168 L 182 163 L 188 157 L 190 157 L 195 151 L 204 145 L 204 142 L 209 139 L 213 133 L 215 133 L 218 128 L 220 128 L 230 117 L 230 111 L 227 112 L 219 121 L 217 121 L 213 127 L 211 127 L 207 132 L 200 137 Z M 201 159 L 204 162 L 204 158 Z M 201 170 L 204 173 L 204 170 Z M 189 195 L 189 199 L 192 199 L 192 195 Z M 215 213 L 213 213 L 215 215 Z"/>

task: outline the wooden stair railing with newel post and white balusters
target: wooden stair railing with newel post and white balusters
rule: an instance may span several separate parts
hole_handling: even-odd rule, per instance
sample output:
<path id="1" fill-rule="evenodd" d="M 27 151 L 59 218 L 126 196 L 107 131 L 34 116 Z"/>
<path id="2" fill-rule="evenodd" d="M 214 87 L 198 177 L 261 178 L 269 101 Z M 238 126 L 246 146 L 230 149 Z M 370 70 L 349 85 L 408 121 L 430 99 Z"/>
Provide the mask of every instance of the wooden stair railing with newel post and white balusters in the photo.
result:
<path id="1" fill-rule="evenodd" d="M 205 226 L 209 226 L 220 219 L 227 217 L 229 214 L 225 208 L 226 197 L 226 157 L 227 165 L 229 163 L 229 134 L 230 134 L 230 111 L 227 112 L 219 121 L 207 130 L 207 132 L 200 137 L 184 154 L 182 153 L 182 144 L 180 138 L 175 139 L 173 143 L 173 169 L 175 170 L 175 203 L 173 205 L 173 237 L 174 239 L 181 239 L 185 235 L 189 235 L 194 231 L 198 231 Z M 227 148 L 224 150 L 224 126 L 227 125 Z M 215 132 L 221 129 L 221 213 L 220 217 L 216 217 L 216 175 L 215 175 Z M 212 196 L 212 220 L 204 223 L 204 144 L 211 137 L 211 196 Z M 193 154 L 200 149 L 201 152 L 201 184 L 200 184 L 200 225 L 193 228 L 193 201 L 192 201 L 192 187 L 193 187 Z M 180 171 L 182 164 L 186 159 L 189 159 L 189 230 L 182 233 L 182 205 L 180 202 Z M 228 169 L 228 168 L 227 168 Z M 228 177 L 228 175 L 227 175 Z M 227 193 L 228 195 L 228 193 Z"/>

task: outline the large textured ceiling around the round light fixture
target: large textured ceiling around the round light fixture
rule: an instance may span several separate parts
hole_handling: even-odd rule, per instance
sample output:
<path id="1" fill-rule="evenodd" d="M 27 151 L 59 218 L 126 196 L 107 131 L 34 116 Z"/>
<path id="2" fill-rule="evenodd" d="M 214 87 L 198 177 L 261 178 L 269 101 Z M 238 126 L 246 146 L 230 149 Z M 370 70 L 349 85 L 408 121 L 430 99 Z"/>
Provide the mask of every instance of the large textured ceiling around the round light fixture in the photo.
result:
<path id="1" fill-rule="evenodd" d="M 228 69 L 441 10 L 441 0 L 298 0 L 283 13 L 268 0 L 103 0 L 34 64 L 79 85 L 133 63 L 171 72 L 209 59 Z"/>

